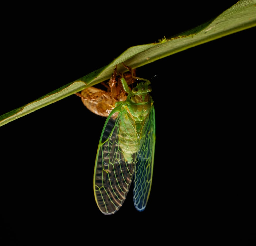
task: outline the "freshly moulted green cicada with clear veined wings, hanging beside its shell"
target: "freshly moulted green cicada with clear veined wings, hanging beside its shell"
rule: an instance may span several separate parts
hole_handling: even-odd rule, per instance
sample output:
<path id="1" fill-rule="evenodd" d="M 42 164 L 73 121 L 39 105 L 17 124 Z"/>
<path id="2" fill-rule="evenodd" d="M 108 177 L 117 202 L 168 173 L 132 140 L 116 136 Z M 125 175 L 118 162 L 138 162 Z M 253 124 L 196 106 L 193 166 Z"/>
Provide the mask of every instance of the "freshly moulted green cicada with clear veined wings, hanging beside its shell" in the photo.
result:
<path id="1" fill-rule="evenodd" d="M 143 211 L 150 194 L 155 152 L 155 110 L 150 80 L 132 90 L 121 78 L 128 93 L 116 102 L 103 127 L 94 168 L 94 195 L 100 211 L 114 214 L 122 206 L 134 180 L 133 200 Z"/>

